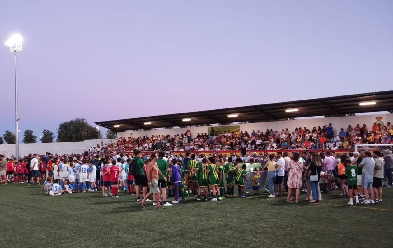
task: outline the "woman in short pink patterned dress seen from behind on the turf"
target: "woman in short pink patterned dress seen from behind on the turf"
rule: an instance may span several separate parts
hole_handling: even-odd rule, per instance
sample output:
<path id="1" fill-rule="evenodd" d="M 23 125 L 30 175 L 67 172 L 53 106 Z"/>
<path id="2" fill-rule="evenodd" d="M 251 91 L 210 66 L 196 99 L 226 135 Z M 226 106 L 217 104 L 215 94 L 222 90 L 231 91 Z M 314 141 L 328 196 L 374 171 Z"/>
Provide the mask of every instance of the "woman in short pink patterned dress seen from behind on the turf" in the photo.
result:
<path id="1" fill-rule="evenodd" d="M 292 153 L 293 157 L 292 160 L 288 164 L 288 194 L 286 197 L 286 201 L 290 201 L 290 197 L 292 195 L 292 190 L 295 190 L 295 203 L 299 202 L 299 193 L 300 188 L 302 186 L 303 181 L 303 160 L 299 159 L 300 155 L 299 152 Z"/>

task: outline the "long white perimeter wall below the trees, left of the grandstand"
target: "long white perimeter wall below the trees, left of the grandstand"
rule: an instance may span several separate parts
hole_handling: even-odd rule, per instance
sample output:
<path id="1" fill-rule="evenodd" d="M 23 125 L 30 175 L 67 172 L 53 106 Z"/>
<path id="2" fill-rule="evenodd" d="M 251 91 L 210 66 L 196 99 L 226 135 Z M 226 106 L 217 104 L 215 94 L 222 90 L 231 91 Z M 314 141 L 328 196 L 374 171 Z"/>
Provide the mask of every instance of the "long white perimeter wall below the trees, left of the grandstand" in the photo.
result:
<path id="1" fill-rule="evenodd" d="M 104 139 L 104 144 L 110 139 Z M 34 143 L 34 144 L 19 144 L 19 155 L 26 156 L 29 153 L 45 154 L 51 152 L 52 154 L 82 154 L 84 151 L 101 144 L 101 139 L 90 139 L 81 142 L 54 142 L 54 143 Z M 100 145 L 101 146 L 101 145 Z M 15 155 L 15 144 L 0 145 L 0 152 L 9 152 L 9 155 Z"/>

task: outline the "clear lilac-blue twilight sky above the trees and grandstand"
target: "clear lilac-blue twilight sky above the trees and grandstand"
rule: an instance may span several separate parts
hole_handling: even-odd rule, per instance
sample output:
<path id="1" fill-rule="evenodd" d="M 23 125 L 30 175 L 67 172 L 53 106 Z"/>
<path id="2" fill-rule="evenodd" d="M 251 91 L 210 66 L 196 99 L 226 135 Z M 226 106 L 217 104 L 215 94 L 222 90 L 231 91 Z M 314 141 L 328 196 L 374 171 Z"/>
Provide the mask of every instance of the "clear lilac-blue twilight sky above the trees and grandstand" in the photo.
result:
<path id="1" fill-rule="evenodd" d="M 1 5 L 0 41 L 24 37 L 21 133 L 392 89 L 391 0 Z M 0 47 L 3 135 L 15 129 L 14 65 Z"/>

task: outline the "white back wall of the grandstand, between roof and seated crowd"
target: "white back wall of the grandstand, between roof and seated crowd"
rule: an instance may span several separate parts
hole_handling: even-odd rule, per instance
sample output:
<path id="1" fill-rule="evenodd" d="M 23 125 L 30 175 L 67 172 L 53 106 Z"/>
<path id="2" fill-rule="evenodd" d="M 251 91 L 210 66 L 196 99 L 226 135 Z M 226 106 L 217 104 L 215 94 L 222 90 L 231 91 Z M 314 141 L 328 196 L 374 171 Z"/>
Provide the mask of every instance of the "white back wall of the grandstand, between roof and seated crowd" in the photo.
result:
<path id="1" fill-rule="evenodd" d="M 393 114 L 375 114 L 375 115 L 364 115 L 364 116 L 348 116 L 348 117 L 332 117 L 332 118 L 314 118 L 314 119 L 296 119 L 291 121 L 269 121 L 269 122 L 259 122 L 259 123 L 248 123 L 248 124 L 239 124 L 240 130 L 247 131 L 251 134 L 252 130 L 260 130 L 261 132 L 266 132 L 266 129 L 273 129 L 273 131 L 277 130 L 281 132 L 282 129 L 288 129 L 290 132 L 294 131 L 296 127 L 307 127 L 308 129 L 312 129 L 313 127 L 323 125 L 327 125 L 328 123 L 332 123 L 334 132 L 340 132 L 340 128 L 343 128 L 345 131 L 347 130 L 348 125 L 352 125 L 352 127 L 356 127 L 356 124 L 360 124 L 360 127 L 365 124 L 369 130 L 374 122 L 376 122 L 376 117 L 381 116 L 384 125 L 387 122 L 393 123 Z M 160 129 L 160 130 L 147 130 L 147 131 L 130 131 L 130 132 L 119 132 L 118 137 L 129 137 L 130 134 L 134 138 L 140 136 L 151 136 L 151 135 L 161 135 L 161 134 L 169 134 L 171 136 L 175 134 L 185 133 L 187 129 L 191 130 L 192 137 L 195 137 L 196 134 L 199 133 L 207 133 L 209 134 L 210 127 L 214 126 L 206 126 L 206 127 L 191 127 L 191 128 L 177 128 L 177 129 Z"/>

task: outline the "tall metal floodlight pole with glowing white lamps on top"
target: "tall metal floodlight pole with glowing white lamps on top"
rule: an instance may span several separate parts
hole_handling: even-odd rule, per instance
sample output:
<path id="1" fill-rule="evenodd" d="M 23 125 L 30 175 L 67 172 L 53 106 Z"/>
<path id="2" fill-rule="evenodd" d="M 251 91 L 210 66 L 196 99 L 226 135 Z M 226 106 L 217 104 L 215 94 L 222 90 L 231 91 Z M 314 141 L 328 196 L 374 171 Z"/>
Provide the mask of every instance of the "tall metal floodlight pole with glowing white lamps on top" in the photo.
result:
<path id="1" fill-rule="evenodd" d="M 22 51 L 22 36 L 14 34 L 7 41 L 6 45 L 10 47 L 9 52 L 15 54 L 15 158 L 19 159 L 19 129 L 18 129 L 18 80 L 17 80 L 17 52 Z"/>

